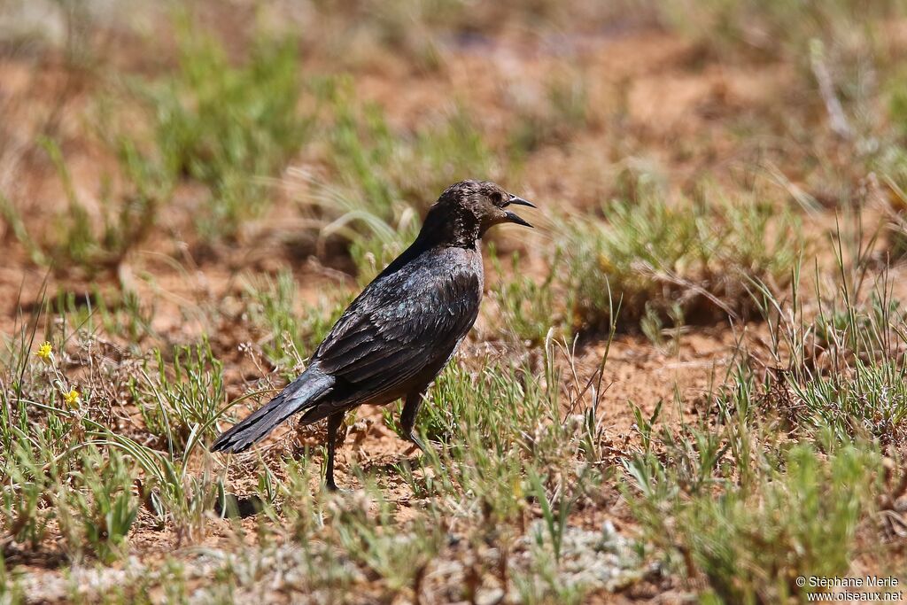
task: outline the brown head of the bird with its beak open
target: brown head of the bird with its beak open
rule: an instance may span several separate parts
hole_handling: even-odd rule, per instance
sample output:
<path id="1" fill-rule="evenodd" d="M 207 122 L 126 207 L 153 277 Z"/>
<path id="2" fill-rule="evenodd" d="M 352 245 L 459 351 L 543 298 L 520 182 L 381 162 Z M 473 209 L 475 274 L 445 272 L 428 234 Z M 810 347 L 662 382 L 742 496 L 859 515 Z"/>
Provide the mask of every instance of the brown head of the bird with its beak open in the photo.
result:
<path id="1" fill-rule="evenodd" d="M 512 222 L 532 227 L 509 206 L 535 206 L 491 181 L 460 181 L 444 190 L 428 210 L 423 226 L 435 238 L 472 245 L 494 225 Z"/>

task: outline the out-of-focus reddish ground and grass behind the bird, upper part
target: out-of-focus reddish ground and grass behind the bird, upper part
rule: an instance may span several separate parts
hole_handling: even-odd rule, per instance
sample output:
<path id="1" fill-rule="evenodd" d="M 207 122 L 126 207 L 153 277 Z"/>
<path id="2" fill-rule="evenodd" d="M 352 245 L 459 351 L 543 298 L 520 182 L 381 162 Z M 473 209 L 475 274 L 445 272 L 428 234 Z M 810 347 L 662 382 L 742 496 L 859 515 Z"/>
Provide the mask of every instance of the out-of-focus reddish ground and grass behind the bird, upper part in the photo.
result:
<path id="1" fill-rule="evenodd" d="M 571 218 L 652 191 L 890 200 L 902 8 L 5 0 L 5 315 L 48 269 L 81 296 L 222 293 L 240 268 L 363 282 L 464 178 L 539 202 L 541 232 L 498 243 L 542 272 Z"/>

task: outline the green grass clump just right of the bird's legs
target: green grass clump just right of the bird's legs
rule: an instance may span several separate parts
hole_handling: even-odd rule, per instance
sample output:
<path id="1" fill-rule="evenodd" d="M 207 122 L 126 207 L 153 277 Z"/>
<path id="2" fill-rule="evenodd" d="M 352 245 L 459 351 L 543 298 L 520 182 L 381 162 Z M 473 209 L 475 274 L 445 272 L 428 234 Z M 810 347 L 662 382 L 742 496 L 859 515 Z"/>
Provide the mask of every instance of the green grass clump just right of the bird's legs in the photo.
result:
<path id="1" fill-rule="evenodd" d="M 553 359 L 547 359 L 546 367 L 550 379 L 558 377 Z M 594 416 L 594 402 L 572 403 L 578 414 Z M 486 514 L 512 521 L 521 513 L 523 494 L 537 493 L 542 476 L 577 472 L 572 453 L 581 451 L 592 460 L 600 455 L 594 420 L 565 421 L 560 409 L 561 395 L 526 368 L 489 367 L 478 376 L 464 368 L 446 371 L 425 404 L 417 430 L 428 443 L 444 445 L 426 462 L 447 470 L 441 473 L 439 466 L 431 473 L 443 478 L 442 483 L 430 475 L 424 483 L 412 476 L 414 492 L 453 497 L 463 489 L 483 501 Z M 388 412 L 392 427 L 394 416 Z M 574 489 L 594 481 L 593 474 Z"/>

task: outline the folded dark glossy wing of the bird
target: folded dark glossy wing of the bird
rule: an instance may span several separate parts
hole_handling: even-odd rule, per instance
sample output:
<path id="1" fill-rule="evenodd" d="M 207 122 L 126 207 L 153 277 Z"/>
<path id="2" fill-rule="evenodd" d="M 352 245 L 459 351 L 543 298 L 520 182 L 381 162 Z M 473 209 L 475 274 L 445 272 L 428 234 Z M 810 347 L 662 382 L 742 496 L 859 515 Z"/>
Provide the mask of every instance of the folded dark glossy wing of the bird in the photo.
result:
<path id="1" fill-rule="evenodd" d="M 369 393 L 385 392 L 449 356 L 473 326 L 480 297 L 480 278 L 469 268 L 420 268 L 377 281 L 340 317 L 313 361 Z"/>

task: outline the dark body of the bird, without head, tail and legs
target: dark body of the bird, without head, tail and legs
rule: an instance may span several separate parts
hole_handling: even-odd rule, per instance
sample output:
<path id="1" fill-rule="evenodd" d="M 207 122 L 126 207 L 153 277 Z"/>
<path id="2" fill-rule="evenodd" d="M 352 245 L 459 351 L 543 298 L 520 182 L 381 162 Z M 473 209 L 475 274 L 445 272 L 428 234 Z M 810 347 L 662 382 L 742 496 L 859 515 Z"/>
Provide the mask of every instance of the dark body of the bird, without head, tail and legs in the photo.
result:
<path id="1" fill-rule="evenodd" d="M 477 249 L 407 250 L 363 290 L 318 346 L 311 367 L 334 376 L 337 384 L 303 420 L 364 403 L 385 404 L 424 388 L 473 327 L 482 290 Z"/>

